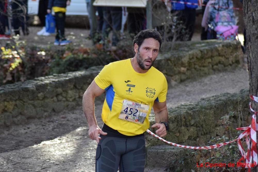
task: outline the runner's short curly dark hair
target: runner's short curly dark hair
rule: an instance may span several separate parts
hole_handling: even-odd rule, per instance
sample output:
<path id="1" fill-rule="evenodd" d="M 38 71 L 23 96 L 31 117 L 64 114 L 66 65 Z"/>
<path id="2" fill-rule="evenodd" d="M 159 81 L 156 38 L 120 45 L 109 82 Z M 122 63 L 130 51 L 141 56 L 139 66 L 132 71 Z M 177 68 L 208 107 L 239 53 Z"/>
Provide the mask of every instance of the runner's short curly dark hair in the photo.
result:
<path id="1" fill-rule="evenodd" d="M 139 47 L 142 45 L 142 42 L 144 39 L 147 38 L 154 38 L 157 41 L 159 41 L 159 49 L 161 48 L 162 45 L 162 36 L 161 34 L 154 30 L 154 29 L 146 29 L 140 31 L 133 39 L 133 45 L 136 43 Z"/>

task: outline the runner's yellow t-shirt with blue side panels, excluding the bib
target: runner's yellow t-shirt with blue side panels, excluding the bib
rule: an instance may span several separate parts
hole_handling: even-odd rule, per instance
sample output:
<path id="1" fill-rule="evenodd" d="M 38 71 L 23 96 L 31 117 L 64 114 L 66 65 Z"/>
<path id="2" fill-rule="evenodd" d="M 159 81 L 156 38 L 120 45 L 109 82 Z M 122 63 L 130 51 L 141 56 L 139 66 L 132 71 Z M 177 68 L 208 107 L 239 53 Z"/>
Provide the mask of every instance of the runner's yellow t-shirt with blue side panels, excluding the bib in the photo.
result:
<path id="1" fill-rule="evenodd" d="M 133 136 L 146 131 L 154 101 L 166 100 L 167 80 L 163 73 L 153 66 L 146 73 L 138 73 L 133 69 L 130 59 L 104 66 L 94 81 L 106 90 L 101 114 L 103 122 L 124 135 Z M 149 105 L 142 124 L 119 119 L 124 100 Z"/>

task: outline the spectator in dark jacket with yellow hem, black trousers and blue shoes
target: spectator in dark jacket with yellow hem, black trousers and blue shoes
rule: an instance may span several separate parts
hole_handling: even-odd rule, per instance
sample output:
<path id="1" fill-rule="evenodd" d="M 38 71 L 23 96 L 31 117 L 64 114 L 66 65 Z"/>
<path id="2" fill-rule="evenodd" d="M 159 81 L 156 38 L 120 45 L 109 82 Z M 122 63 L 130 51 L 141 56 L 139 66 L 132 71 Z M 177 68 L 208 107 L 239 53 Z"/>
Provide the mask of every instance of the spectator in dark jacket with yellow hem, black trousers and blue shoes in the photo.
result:
<path id="1" fill-rule="evenodd" d="M 65 38 L 65 13 L 67 5 L 70 5 L 70 0 L 49 0 L 47 6 L 47 13 L 51 13 L 52 8 L 55 12 L 57 35 L 55 36 L 54 45 L 67 45 L 71 42 Z"/>

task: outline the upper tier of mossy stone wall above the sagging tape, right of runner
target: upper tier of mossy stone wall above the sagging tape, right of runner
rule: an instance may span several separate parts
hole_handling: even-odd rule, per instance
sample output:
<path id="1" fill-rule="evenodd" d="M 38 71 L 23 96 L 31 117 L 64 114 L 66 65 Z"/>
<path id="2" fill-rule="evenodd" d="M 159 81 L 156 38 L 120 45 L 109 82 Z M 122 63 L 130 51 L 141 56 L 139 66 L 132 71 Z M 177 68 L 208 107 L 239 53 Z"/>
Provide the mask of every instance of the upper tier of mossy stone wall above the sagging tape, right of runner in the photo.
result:
<path id="1" fill-rule="evenodd" d="M 229 116 L 230 111 L 234 112 L 233 116 Z M 249 91 L 223 93 L 201 99 L 195 104 L 183 104 L 169 108 L 168 114 L 170 131 L 165 138 L 167 141 L 189 146 L 206 145 L 207 139 L 228 134 L 226 121 L 232 122 L 233 129 L 243 127 L 243 124 L 244 126 L 251 124 Z M 150 126 L 155 124 L 155 115 L 150 115 L 149 119 Z M 149 130 L 155 133 L 154 129 L 149 128 Z M 153 146 L 164 142 L 146 134 L 146 143 L 148 146 Z"/>

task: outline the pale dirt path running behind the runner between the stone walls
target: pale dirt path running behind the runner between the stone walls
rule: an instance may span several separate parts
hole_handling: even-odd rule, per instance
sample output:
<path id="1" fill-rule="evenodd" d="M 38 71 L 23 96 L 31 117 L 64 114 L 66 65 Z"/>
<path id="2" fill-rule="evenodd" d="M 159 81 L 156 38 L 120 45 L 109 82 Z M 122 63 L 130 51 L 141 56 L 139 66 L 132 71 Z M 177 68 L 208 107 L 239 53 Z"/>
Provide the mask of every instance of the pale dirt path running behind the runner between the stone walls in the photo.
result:
<path id="1" fill-rule="evenodd" d="M 168 107 L 198 101 L 200 98 L 248 88 L 248 73 L 241 68 L 184 82 L 169 88 Z M 101 121 L 100 101 L 96 118 Z M 88 127 L 81 107 L 29 124 L 7 128 L 0 134 L 0 171 L 95 171 L 96 142 L 88 138 Z M 146 171 L 163 171 L 146 169 Z"/>

